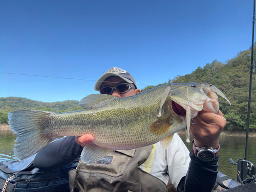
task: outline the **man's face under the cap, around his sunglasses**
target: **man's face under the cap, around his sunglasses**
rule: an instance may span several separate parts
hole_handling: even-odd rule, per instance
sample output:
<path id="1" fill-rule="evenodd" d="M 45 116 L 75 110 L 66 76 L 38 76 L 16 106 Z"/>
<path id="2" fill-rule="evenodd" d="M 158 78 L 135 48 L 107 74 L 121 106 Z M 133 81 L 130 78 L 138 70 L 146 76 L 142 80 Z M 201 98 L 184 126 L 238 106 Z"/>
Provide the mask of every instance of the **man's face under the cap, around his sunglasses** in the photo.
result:
<path id="1" fill-rule="evenodd" d="M 106 86 L 109 86 L 109 87 L 115 87 L 117 86 L 119 83 L 127 83 L 125 82 L 123 79 L 121 79 L 120 77 L 109 77 L 107 78 L 105 81 L 109 81 L 109 82 L 103 82 L 101 84 L 101 87 L 100 88 L 103 88 L 103 87 L 106 87 Z M 132 84 L 131 84 L 132 85 Z M 133 86 L 133 85 L 132 85 Z M 134 86 L 133 86 L 134 87 Z M 130 89 L 129 91 L 125 92 L 125 93 L 118 93 L 116 90 L 113 90 L 112 92 L 112 96 L 115 96 L 115 97 L 129 97 L 129 96 L 133 96 L 137 93 L 140 93 L 140 90 L 139 89 Z"/>

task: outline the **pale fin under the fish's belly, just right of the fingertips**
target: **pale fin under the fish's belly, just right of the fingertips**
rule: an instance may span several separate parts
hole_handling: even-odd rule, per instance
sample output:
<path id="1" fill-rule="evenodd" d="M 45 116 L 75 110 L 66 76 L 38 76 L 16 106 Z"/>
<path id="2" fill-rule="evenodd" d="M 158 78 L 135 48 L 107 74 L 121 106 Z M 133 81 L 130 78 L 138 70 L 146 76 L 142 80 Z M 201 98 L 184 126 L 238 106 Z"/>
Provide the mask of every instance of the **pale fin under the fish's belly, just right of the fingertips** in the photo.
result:
<path id="1" fill-rule="evenodd" d="M 108 155 L 109 153 L 113 152 L 112 150 L 106 150 L 105 148 L 101 148 L 93 143 L 89 143 L 83 147 L 81 153 L 81 160 L 87 165 L 90 165 L 102 157 Z"/>

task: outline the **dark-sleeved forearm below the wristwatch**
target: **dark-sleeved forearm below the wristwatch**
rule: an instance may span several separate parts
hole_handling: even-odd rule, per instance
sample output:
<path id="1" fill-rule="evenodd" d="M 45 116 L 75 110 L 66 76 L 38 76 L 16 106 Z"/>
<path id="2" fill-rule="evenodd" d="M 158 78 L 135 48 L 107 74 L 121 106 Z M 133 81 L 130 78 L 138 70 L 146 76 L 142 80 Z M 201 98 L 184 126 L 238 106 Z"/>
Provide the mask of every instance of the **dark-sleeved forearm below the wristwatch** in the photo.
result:
<path id="1" fill-rule="evenodd" d="M 188 172 L 183 177 L 178 185 L 178 191 L 192 192 L 192 191 L 211 191 L 215 185 L 218 174 L 218 159 L 217 156 L 210 162 L 203 162 L 198 159 L 194 151 L 191 150 L 189 154 L 191 161 Z"/>

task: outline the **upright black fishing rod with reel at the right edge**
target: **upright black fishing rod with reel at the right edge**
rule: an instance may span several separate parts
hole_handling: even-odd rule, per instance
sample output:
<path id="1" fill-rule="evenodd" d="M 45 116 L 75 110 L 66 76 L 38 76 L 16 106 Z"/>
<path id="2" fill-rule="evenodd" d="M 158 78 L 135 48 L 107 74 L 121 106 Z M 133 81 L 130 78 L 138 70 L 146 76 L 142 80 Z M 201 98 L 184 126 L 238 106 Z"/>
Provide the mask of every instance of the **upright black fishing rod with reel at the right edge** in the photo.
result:
<path id="1" fill-rule="evenodd" d="M 247 125 L 246 125 L 246 137 L 245 137 L 245 156 L 244 156 L 244 160 L 240 158 L 236 163 L 233 162 L 231 158 L 229 159 L 229 162 L 231 164 L 238 165 L 237 180 L 241 184 L 245 184 L 252 181 L 252 179 L 255 179 L 255 174 L 256 174 L 255 166 L 250 161 L 247 161 L 247 148 L 248 148 L 249 123 L 250 123 L 249 122 L 250 121 L 250 104 L 251 104 L 251 82 L 252 82 L 252 70 L 253 70 L 254 23 L 255 23 L 255 0 L 253 1 L 253 16 L 252 16 L 251 63 L 250 63 Z M 254 65 L 256 66 L 256 60 L 254 60 Z M 251 179 L 247 178 L 247 175 L 249 175 Z"/>

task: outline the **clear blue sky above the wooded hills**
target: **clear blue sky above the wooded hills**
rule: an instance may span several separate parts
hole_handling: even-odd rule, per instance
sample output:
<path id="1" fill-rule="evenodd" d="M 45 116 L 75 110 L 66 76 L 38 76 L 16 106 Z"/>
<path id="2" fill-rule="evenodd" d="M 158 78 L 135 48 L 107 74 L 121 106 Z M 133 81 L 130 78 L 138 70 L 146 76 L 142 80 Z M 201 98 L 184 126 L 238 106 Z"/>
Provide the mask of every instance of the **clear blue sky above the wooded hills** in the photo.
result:
<path id="1" fill-rule="evenodd" d="M 0 0 L 0 97 L 80 100 L 111 67 L 142 89 L 225 63 L 251 46 L 252 12 L 253 0 Z"/>

